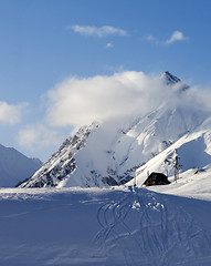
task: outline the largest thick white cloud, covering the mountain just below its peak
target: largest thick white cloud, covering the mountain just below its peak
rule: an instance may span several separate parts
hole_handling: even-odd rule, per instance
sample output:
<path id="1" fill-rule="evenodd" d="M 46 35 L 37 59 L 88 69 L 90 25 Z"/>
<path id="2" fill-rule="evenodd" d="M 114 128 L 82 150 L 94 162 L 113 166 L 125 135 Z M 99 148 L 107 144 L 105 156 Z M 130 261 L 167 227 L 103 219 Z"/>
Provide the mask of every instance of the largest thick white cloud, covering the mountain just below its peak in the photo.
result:
<path id="1" fill-rule="evenodd" d="M 46 116 L 52 126 L 76 127 L 130 114 L 141 116 L 163 101 L 171 106 L 177 104 L 175 91 L 180 86 L 170 88 L 160 76 L 150 78 L 136 71 L 109 76 L 70 78 L 49 91 Z"/>

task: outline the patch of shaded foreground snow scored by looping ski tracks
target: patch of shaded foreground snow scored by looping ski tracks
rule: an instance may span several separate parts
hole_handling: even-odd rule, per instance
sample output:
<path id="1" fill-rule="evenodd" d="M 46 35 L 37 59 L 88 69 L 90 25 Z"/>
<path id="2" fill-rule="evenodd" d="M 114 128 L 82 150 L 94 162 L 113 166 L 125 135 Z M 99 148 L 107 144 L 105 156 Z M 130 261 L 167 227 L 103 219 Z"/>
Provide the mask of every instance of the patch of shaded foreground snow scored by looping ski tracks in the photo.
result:
<path id="1" fill-rule="evenodd" d="M 127 216 L 136 203 L 139 203 L 139 228 L 131 228 Z M 211 263 L 210 238 L 202 227 L 180 206 L 172 203 L 168 206 L 155 194 L 143 195 L 135 188 L 122 201 L 102 205 L 97 211 L 97 221 L 102 229 L 95 236 L 95 244 L 109 252 L 110 243 L 116 243 L 115 248 L 119 248 L 124 256 L 123 265 L 188 266 Z M 198 254 L 200 242 L 205 246 Z M 176 256 L 175 262 L 170 260 L 175 253 L 181 253 L 181 259 Z"/>

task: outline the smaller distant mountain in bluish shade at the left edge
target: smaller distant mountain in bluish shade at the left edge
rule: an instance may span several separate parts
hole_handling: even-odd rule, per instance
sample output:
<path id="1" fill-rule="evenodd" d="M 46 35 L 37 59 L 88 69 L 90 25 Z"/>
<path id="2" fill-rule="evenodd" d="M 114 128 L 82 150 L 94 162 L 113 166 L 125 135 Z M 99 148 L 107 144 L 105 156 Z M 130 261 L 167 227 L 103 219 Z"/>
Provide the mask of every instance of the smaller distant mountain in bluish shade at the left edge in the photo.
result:
<path id="1" fill-rule="evenodd" d="M 0 144 L 0 187 L 13 187 L 30 178 L 42 165 L 38 158 L 29 158 L 13 147 Z"/>

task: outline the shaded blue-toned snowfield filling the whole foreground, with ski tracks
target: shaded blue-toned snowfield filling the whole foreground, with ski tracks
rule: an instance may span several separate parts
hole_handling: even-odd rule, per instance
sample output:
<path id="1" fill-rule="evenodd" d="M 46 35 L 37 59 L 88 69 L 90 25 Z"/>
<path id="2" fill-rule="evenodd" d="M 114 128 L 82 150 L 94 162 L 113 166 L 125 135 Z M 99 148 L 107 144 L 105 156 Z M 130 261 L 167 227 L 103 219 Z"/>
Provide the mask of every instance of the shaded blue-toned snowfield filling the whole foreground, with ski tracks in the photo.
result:
<path id="1" fill-rule="evenodd" d="M 209 266 L 211 193 L 197 196 L 1 188 L 0 265 Z"/>

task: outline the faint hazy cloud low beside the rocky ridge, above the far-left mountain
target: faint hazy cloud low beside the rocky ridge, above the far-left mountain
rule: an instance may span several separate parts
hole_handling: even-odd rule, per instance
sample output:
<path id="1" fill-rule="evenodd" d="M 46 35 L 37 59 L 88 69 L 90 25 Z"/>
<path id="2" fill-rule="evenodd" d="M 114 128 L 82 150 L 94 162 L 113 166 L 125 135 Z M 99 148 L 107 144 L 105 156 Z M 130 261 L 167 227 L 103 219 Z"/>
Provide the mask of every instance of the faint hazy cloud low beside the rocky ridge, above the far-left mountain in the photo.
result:
<path id="1" fill-rule="evenodd" d="M 18 143 L 20 146 L 36 151 L 46 146 L 59 145 L 59 133 L 44 124 L 25 125 L 19 131 Z"/>

